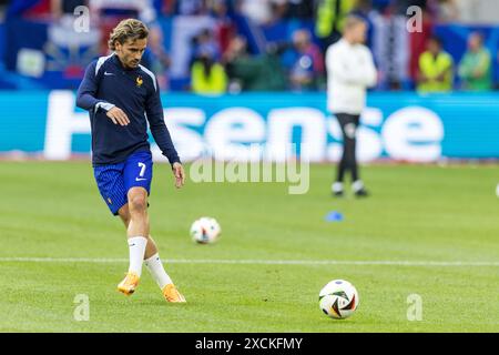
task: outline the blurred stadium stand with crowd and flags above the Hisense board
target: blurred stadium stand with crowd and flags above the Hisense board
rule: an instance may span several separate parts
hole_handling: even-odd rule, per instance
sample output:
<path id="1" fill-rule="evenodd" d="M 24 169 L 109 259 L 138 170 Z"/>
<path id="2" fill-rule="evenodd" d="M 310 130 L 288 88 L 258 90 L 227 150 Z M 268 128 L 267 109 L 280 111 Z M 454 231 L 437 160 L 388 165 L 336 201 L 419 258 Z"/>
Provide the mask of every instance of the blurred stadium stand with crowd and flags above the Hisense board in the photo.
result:
<path id="1" fill-rule="evenodd" d="M 90 10 L 83 32 L 74 30 L 74 21 L 85 16 L 74 11 L 80 6 Z M 411 6 L 422 10 L 420 31 L 406 30 Z M 497 88 L 499 3 L 493 0 L 13 0 L 0 1 L 0 89 L 75 89 L 85 65 L 105 54 L 110 29 L 136 17 L 152 30 L 144 65 L 163 90 L 324 90 L 322 55 L 349 12 L 370 26 L 368 45 L 380 74 L 376 90 L 415 90 L 419 58 L 432 36 L 456 64 L 454 90 L 470 89 L 458 64 L 471 33 L 479 33 L 490 57 L 492 83 L 486 88 Z M 213 63 L 200 70 L 206 57 Z M 265 75 L 262 67 L 276 64 L 268 87 L 258 75 L 252 82 L 243 78 L 247 68 L 256 65 Z M 213 68 L 217 79 L 208 78 Z"/>

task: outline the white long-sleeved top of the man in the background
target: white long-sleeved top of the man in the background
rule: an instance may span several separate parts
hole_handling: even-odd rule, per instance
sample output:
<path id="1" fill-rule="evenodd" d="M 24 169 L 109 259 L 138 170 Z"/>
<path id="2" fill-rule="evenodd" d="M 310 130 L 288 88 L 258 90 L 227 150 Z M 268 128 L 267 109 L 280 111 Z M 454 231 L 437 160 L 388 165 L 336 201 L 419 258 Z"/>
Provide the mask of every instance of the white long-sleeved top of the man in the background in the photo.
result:
<path id="1" fill-rule="evenodd" d="M 326 69 L 328 110 L 360 114 L 366 105 L 366 89 L 377 81 L 369 49 L 342 39 L 327 49 Z"/>

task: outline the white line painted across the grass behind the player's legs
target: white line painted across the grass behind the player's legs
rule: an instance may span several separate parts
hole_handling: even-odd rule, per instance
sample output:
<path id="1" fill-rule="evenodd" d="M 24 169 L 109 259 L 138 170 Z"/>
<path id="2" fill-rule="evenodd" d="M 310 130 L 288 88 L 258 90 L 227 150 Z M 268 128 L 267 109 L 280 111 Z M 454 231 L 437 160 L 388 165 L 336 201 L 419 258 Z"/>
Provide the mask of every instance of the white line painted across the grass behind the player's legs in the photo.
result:
<path id="1" fill-rule="evenodd" d="M 0 263 L 128 263 L 128 258 L 88 257 L 0 257 Z M 352 265 L 352 266 L 499 266 L 499 262 L 439 261 L 342 261 L 342 260 L 164 260 L 167 264 L 240 264 L 240 265 Z"/>

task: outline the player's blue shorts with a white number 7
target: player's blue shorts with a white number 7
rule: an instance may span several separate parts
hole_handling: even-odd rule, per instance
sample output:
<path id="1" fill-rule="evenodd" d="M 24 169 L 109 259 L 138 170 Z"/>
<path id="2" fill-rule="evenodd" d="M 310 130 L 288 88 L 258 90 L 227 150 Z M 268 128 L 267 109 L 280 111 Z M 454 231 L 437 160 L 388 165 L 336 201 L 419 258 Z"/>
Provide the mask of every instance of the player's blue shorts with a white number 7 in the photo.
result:
<path id="1" fill-rule="evenodd" d="M 126 196 L 132 187 L 144 187 L 151 192 L 153 162 L 151 152 L 136 152 L 119 164 L 93 168 L 99 192 L 112 214 L 129 203 Z"/>

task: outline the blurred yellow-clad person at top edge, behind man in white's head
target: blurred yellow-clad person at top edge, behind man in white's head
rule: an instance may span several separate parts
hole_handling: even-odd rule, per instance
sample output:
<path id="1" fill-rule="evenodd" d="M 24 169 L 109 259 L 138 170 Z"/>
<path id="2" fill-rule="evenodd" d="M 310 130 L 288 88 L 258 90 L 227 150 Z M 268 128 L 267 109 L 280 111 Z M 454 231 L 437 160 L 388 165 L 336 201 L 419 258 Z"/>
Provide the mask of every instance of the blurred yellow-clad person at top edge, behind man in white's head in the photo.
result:
<path id="1" fill-rule="evenodd" d="M 315 34 L 322 41 L 323 52 L 342 38 L 346 16 L 357 0 L 317 0 Z"/>

